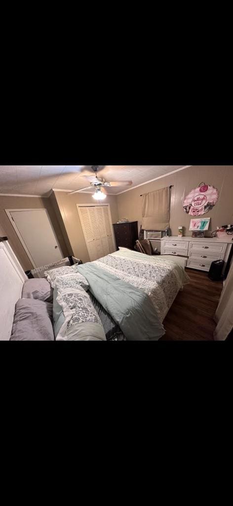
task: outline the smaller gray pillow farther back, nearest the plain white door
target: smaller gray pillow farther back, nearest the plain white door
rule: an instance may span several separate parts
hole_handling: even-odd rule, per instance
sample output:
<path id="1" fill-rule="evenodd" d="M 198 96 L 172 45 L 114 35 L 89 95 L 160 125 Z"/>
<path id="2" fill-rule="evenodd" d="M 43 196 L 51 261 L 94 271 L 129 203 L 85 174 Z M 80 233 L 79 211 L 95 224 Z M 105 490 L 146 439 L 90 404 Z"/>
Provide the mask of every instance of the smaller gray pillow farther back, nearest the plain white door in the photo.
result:
<path id="1" fill-rule="evenodd" d="M 23 285 L 22 299 L 38 299 L 53 302 L 53 288 L 45 278 L 27 279 Z"/>

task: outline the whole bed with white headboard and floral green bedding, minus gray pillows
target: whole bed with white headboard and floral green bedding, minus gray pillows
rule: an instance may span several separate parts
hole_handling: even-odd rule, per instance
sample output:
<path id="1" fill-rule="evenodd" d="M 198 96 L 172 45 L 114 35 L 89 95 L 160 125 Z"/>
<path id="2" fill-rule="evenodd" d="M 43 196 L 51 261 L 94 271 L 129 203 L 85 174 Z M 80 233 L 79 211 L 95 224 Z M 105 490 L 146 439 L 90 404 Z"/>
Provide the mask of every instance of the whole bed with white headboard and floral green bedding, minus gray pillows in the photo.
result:
<path id="1" fill-rule="evenodd" d="M 189 282 L 184 265 L 185 259 L 179 257 L 150 257 L 120 248 L 95 262 L 59 269 L 53 299 L 54 308 L 61 305 L 56 339 L 160 339 L 165 333 L 163 319 Z M 15 311 L 27 279 L 7 238 L 0 238 L 0 340 L 12 339 Z"/>

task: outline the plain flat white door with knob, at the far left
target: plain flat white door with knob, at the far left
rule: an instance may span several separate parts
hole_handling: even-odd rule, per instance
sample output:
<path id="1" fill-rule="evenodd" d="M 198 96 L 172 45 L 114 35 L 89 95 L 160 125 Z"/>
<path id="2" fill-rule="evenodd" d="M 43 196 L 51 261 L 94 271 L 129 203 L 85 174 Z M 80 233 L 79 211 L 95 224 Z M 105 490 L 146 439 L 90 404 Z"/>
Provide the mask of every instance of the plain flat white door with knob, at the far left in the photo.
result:
<path id="1" fill-rule="evenodd" d="M 11 209 L 8 216 L 34 267 L 63 258 L 46 209 Z"/>

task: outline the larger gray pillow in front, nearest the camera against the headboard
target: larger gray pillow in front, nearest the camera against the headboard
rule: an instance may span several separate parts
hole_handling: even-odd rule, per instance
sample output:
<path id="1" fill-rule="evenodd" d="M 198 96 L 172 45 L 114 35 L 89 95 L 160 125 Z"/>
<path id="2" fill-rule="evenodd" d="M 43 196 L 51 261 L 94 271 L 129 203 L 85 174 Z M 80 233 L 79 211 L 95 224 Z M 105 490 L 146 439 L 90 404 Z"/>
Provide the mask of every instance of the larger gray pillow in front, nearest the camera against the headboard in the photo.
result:
<path id="1" fill-rule="evenodd" d="M 54 341 L 52 317 L 50 302 L 19 299 L 10 341 Z"/>

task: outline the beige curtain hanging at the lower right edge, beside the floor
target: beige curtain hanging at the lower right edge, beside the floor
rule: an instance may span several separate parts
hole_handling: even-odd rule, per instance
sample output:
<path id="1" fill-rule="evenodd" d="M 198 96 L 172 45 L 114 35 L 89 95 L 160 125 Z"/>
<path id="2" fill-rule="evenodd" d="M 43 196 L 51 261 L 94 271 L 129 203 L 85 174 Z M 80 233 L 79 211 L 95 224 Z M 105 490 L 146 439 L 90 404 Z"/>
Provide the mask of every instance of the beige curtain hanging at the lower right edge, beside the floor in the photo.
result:
<path id="1" fill-rule="evenodd" d="M 214 330 L 214 340 L 224 341 L 233 328 L 233 261 L 224 283 L 214 320 L 217 323 Z"/>

